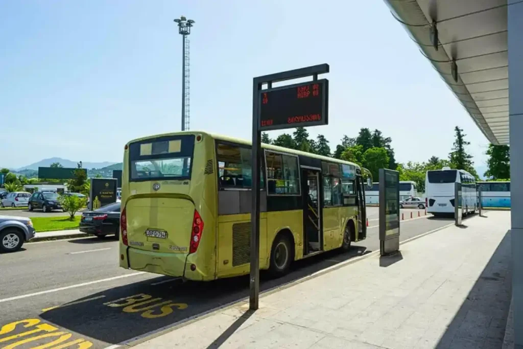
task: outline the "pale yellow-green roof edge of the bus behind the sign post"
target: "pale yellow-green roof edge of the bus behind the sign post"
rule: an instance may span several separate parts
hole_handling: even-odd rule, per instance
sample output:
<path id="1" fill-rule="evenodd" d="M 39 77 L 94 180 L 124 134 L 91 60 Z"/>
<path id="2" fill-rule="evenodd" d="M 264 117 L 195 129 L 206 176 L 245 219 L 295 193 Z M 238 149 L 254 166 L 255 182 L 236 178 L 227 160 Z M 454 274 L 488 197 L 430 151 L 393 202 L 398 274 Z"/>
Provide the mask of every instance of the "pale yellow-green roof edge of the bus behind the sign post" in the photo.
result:
<path id="1" fill-rule="evenodd" d="M 155 134 L 152 136 L 146 136 L 146 137 L 140 137 L 137 139 L 133 139 L 133 140 L 127 142 L 127 145 L 129 146 L 130 143 L 142 141 L 142 140 L 146 140 L 146 139 L 151 139 L 151 138 L 156 138 L 156 137 L 165 137 L 165 136 L 177 136 L 177 135 L 181 135 L 181 134 L 202 134 L 203 136 L 209 136 L 209 137 L 212 137 L 213 139 L 218 139 L 221 141 L 244 144 L 244 145 L 252 145 L 251 141 L 246 141 L 244 139 L 233 138 L 233 137 L 229 137 L 229 136 L 223 136 L 221 134 L 214 134 L 214 133 L 209 133 L 209 132 L 204 132 L 204 131 L 180 131 L 180 132 Z M 278 147 L 277 145 L 270 145 L 270 144 L 265 144 L 265 143 L 261 143 L 261 147 L 263 149 L 275 150 L 275 151 L 285 152 L 285 153 L 294 154 L 294 155 L 309 156 L 309 157 L 313 157 L 314 159 L 325 160 L 325 161 L 329 161 L 329 162 L 333 162 L 333 163 L 353 165 L 361 170 L 361 167 L 358 164 L 355 164 L 355 163 L 349 162 L 349 161 L 335 159 L 334 157 L 317 155 L 317 154 L 313 154 L 313 153 L 308 153 L 308 152 L 290 149 L 290 148 Z"/>

